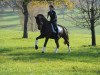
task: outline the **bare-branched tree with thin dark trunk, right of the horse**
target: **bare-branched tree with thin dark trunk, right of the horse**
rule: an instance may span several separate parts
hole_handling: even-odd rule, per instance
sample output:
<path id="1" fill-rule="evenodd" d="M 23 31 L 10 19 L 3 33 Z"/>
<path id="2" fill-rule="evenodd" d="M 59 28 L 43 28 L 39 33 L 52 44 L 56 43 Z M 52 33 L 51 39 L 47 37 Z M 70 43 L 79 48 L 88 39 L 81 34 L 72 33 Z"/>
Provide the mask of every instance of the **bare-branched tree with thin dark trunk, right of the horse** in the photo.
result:
<path id="1" fill-rule="evenodd" d="M 99 0 L 72 0 L 77 11 L 74 20 L 78 27 L 91 30 L 92 46 L 96 46 L 95 27 L 100 19 L 100 1 Z"/>

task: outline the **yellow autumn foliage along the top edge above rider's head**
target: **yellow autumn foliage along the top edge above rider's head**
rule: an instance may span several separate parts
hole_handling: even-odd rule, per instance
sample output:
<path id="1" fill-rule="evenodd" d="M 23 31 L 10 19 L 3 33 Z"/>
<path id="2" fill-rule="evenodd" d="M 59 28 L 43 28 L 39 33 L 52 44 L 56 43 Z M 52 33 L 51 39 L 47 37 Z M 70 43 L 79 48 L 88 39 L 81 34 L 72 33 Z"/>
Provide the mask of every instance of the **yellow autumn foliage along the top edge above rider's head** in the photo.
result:
<path id="1" fill-rule="evenodd" d="M 69 9 L 73 8 L 73 3 L 70 0 L 55 0 L 54 2 L 51 1 L 32 1 L 31 7 L 48 7 L 49 4 L 54 4 L 55 6 L 61 6 L 62 4 L 67 5 Z"/>

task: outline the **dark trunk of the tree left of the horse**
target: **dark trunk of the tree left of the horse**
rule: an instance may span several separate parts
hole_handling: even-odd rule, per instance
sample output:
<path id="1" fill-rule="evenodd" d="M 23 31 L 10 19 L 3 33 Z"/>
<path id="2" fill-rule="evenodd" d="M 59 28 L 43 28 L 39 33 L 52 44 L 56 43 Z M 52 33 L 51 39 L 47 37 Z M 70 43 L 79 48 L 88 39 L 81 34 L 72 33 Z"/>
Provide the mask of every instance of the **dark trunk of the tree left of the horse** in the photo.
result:
<path id="1" fill-rule="evenodd" d="M 24 15 L 24 32 L 23 32 L 23 38 L 28 38 L 28 32 L 27 32 L 27 24 L 28 24 L 28 9 L 27 4 L 23 2 L 23 15 Z"/>

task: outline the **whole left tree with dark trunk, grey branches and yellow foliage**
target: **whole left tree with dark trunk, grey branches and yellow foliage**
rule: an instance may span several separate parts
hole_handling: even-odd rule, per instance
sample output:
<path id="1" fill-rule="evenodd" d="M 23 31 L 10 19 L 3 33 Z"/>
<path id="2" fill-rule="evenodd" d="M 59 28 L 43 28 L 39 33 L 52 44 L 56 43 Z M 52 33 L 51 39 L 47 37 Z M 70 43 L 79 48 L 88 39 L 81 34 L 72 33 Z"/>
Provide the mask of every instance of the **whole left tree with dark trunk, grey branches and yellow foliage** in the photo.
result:
<path id="1" fill-rule="evenodd" d="M 68 3 L 69 0 L 0 0 L 0 1 L 2 1 L 5 5 L 10 6 L 13 9 L 13 11 L 17 9 L 20 11 L 20 14 L 23 14 L 24 16 L 23 38 L 28 38 L 28 21 L 29 21 L 30 15 L 31 14 L 33 15 L 34 9 L 39 9 L 38 12 L 42 13 L 44 12 L 44 9 L 46 10 L 46 6 L 48 6 L 48 4 L 50 3 L 53 3 L 56 6 L 56 5 L 61 4 L 62 2 Z M 28 8 L 29 4 L 31 6 Z M 31 10 L 31 12 L 29 12 L 29 10 Z M 34 16 L 31 17 L 32 19 L 31 21 L 33 21 Z"/>

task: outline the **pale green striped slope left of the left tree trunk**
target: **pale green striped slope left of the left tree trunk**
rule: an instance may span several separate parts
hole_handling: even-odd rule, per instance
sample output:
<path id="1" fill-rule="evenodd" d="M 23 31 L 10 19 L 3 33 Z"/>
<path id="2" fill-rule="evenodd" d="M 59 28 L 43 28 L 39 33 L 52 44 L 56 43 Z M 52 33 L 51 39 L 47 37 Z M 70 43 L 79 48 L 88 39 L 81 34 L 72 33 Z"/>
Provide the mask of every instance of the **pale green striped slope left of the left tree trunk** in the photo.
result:
<path id="1" fill-rule="evenodd" d="M 0 13 L 0 30 L 21 30 L 19 17 L 12 11 Z"/>

